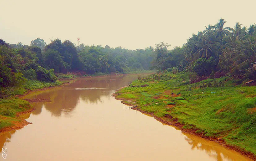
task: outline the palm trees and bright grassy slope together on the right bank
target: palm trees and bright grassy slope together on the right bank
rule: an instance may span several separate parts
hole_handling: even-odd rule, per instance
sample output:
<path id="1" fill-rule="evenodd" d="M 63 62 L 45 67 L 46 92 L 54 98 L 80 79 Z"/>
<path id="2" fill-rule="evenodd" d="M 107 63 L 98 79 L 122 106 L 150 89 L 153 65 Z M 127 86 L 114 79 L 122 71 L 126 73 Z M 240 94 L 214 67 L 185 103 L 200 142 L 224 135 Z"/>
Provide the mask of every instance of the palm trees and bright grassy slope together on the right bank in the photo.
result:
<path id="1" fill-rule="evenodd" d="M 152 68 L 158 73 L 138 78 L 117 98 L 256 155 L 256 25 L 225 23 L 208 25 L 182 47 L 156 44 Z"/>

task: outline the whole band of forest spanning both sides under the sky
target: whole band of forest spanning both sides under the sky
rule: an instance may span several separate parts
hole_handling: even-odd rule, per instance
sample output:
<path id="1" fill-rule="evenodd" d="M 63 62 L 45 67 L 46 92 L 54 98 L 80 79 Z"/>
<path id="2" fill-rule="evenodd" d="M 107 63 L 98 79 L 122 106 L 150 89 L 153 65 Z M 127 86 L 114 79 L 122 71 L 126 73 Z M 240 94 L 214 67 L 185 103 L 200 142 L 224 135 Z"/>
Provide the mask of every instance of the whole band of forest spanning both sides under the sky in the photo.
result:
<path id="1" fill-rule="evenodd" d="M 242 83 L 256 79 L 256 25 L 236 23 L 225 27 L 225 19 L 193 34 L 182 47 L 169 50 L 160 42 L 155 48 L 128 50 L 108 45 L 76 46 L 69 40 L 37 38 L 31 44 L 9 44 L 0 39 L 0 88 L 19 87 L 27 80 L 55 82 L 56 73 L 129 73 L 148 69 L 187 71 L 191 83 L 229 75 Z"/>

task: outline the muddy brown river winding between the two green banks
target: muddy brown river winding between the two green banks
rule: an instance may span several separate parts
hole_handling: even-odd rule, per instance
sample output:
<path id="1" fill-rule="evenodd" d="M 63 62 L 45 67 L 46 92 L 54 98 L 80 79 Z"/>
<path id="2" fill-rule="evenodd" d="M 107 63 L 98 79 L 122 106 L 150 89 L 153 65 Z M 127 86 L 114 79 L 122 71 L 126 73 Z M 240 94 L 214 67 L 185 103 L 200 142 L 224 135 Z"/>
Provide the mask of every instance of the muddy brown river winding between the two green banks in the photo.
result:
<path id="1" fill-rule="evenodd" d="M 31 103 L 32 122 L 4 133 L 5 161 L 251 161 L 197 136 L 182 133 L 132 110 L 111 95 L 138 74 L 81 78 L 63 87 L 30 93 L 50 98 Z"/>

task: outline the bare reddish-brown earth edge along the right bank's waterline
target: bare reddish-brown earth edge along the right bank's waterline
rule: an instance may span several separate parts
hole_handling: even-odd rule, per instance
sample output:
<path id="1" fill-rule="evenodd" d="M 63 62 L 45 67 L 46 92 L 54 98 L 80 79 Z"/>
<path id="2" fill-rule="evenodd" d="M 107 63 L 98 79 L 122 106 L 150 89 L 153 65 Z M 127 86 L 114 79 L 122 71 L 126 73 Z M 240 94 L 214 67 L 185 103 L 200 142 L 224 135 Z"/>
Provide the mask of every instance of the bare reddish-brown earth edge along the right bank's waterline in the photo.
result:
<path id="1" fill-rule="evenodd" d="M 121 88 L 119 88 L 118 90 L 120 90 Z M 117 91 L 118 91 L 117 90 Z M 163 123 L 163 124 L 166 124 L 166 125 L 170 125 L 170 126 L 175 126 L 177 127 L 180 131 L 182 131 L 183 133 L 187 133 L 187 134 L 192 134 L 192 135 L 195 135 L 195 136 L 198 136 L 198 137 L 201 137 L 201 138 L 204 138 L 206 140 L 209 140 L 209 141 L 213 141 L 213 142 L 216 142 L 218 143 L 219 145 L 227 148 L 227 149 L 231 149 L 231 150 L 234 150 L 254 161 L 256 161 L 256 155 L 254 155 L 253 153 L 251 152 L 248 152 L 248 151 L 245 151 L 245 150 L 242 150 L 240 149 L 239 147 L 237 146 L 232 146 L 232 145 L 228 145 L 223 139 L 220 139 L 220 138 L 214 138 L 214 137 L 206 137 L 206 136 L 203 136 L 202 133 L 196 133 L 196 129 L 183 129 L 182 127 L 184 126 L 184 124 L 181 124 L 180 122 L 177 122 L 177 121 L 174 121 L 172 119 L 172 117 L 163 117 L 163 118 L 160 118 L 160 117 L 157 117 L 154 115 L 154 113 L 150 113 L 150 112 L 146 112 L 146 111 L 143 111 L 141 110 L 140 108 L 137 108 L 137 106 L 134 106 L 132 103 L 128 103 L 128 102 L 124 102 L 125 101 L 131 101 L 129 99 L 122 99 L 122 98 L 116 98 L 117 94 L 114 93 L 112 95 L 116 100 L 121 100 L 121 103 L 125 104 L 125 105 L 128 105 L 128 106 L 132 106 L 131 109 L 133 110 L 137 110 L 137 111 L 140 111 L 141 113 L 143 114 L 146 114 L 148 116 L 151 116 L 151 117 L 154 117 L 154 119 L 156 119 L 157 121 Z"/>

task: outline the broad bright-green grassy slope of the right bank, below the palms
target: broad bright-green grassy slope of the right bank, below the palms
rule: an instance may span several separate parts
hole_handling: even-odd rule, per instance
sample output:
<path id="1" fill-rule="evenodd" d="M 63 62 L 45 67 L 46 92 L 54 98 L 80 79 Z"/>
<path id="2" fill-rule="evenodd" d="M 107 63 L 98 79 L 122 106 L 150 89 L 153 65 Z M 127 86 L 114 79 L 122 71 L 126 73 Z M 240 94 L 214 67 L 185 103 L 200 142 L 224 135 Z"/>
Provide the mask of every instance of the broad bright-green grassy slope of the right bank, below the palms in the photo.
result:
<path id="1" fill-rule="evenodd" d="M 187 73 L 168 72 L 134 81 L 115 97 L 162 122 L 249 152 L 245 155 L 255 159 L 256 87 L 235 83 L 231 77 L 221 77 L 190 84 Z"/>

